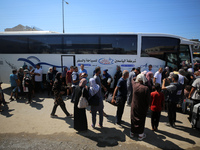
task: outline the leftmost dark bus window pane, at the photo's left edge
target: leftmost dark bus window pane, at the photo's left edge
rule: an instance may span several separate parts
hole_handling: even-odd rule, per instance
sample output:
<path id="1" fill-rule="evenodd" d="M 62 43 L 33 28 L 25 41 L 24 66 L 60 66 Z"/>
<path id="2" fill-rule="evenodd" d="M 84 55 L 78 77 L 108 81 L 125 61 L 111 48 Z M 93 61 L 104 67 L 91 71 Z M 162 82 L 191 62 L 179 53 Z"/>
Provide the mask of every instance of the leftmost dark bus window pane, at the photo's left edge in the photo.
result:
<path id="1" fill-rule="evenodd" d="M 0 53 L 28 53 L 27 36 L 1 36 Z"/>

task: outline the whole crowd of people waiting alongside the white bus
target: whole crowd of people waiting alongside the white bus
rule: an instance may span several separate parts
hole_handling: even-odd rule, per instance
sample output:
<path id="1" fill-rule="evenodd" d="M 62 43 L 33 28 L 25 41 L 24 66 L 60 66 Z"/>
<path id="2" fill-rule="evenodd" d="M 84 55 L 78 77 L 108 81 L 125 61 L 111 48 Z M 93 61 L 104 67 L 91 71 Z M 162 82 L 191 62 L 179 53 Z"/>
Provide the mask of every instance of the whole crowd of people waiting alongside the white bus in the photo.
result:
<path id="1" fill-rule="evenodd" d="M 74 117 L 74 129 L 77 131 L 85 131 L 88 129 L 86 110 L 79 108 L 78 104 L 80 97 L 85 97 L 90 107 L 92 115 L 92 128 L 96 126 L 96 115 L 99 113 L 100 128 L 103 127 L 103 116 L 106 113 L 103 111 L 103 100 L 109 99 L 111 96 L 111 104 L 117 106 L 116 125 L 122 127 L 122 116 L 125 104 L 131 107 L 131 131 L 130 137 L 138 136 L 139 140 L 146 138 L 144 133 L 145 120 L 147 112 L 151 110 L 151 125 L 152 131 L 158 130 L 159 119 L 162 110 L 168 111 L 169 122 L 166 124 L 171 127 L 176 127 L 176 109 L 182 104 L 183 99 L 192 99 L 194 103 L 200 100 L 200 70 L 199 66 L 182 66 L 177 68 L 159 68 L 153 70 L 152 65 L 148 66 L 145 71 L 133 68 L 121 71 L 120 66 L 116 67 L 116 73 L 112 77 L 108 73 L 108 69 L 103 70 L 96 67 L 93 72 L 93 77 L 88 79 L 87 70 L 84 65 L 71 66 L 69 69 L 64 68 L 64 71 L 58 72 L 56 67 L 49 68 L 46 74 L 45 87 L 48 91 L 48 96 L 54 97 L 54 106 L 51 112 L 51 117 L 57 117 L 56 109 L 61 107 L 67 117 Z M 10 75 L 11 97 L 18 99 L 19 96 L 27 95 L 27 102 L 32 102 L 35 93 L 44 91 L 43 71 L 40 64 L 34 69 L 32 66 L 24 65 L 17 70 L 13 70 Z M 111 84 L 114 81 L 114 86 Z M 4 99 L 3 89 L 0 82 L 0 100 L 1 104 L 7 105 L 8 102 Z M 66 94 L 66 99 L 71 99 L 74 103 L 74 113 L 67 111 L 63 95 Z M 14 98 L 13 98 L 14 97 Z M 167 105 L 166 105 L 167 103 Z M 0 109 L 0 111 L 3 111 Z"/>

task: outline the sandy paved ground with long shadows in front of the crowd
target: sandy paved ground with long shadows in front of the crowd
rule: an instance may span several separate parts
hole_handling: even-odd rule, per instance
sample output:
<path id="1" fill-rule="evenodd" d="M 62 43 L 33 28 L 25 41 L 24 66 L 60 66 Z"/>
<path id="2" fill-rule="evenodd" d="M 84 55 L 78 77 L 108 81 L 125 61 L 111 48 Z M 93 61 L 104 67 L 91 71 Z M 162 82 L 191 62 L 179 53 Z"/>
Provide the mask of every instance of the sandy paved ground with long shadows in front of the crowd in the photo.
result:
<path id="1" fill-rule="evenodd" d="M 3 84 L 6 100 L 9 101 L 9 85 Z M 91 114 L 87 111 L 87 132 L 73 129 L 73 119 L 65 118 L 58 107 L 58 118 L 50 118 L 53 99 L 47 94 L 38 94 L 31 105 L 20 99 L 8 104 L 9 109 L 0 114 L 0 149 L 200 149 L 200 131 L 192 129 L 187 115 L 178 113 L 177 127 L 165 125 L 166 112 L 162 112 L 159 131 L 152 132 L 150 115 L 146 119 L 147 138 L 138 141 L 130 138 L 130 107 L 125 108 L 123 128 L 114 125 L 116 107 L 104 102 L 104 128 L 91 128 Z M 69 112 L 73 104 L 65 101 Z M 98 116 L 97 116 L 98 117 Z M 98 119 L 97 119 L 98 121 Z"/>

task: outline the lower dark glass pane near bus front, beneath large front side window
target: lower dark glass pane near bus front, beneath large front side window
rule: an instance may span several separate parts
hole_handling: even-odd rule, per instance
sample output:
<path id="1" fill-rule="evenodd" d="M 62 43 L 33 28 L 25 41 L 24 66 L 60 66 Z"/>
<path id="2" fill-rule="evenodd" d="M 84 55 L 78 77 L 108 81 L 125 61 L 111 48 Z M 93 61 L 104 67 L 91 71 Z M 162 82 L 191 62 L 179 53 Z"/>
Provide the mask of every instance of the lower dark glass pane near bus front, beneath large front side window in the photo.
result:
<path id="1" fill-rule="evenodd" d="M 177 53 L 165 53 L 165 66 L 173 68 L 179 67 L 179 60 L 177 57 Z"/>

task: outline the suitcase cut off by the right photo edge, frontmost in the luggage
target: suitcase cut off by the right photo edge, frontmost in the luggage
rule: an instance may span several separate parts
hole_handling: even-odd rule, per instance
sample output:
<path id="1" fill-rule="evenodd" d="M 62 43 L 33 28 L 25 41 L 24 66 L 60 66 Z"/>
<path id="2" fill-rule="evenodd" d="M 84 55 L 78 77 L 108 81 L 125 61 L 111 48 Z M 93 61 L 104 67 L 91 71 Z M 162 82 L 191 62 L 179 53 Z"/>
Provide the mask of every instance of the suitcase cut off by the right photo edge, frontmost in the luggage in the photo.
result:
<path id="1" fill-rule="evenodd" d="M 200 128 L 200 103 L 193 107 L 191 125 L 193 128 Z"/>

